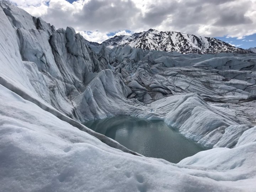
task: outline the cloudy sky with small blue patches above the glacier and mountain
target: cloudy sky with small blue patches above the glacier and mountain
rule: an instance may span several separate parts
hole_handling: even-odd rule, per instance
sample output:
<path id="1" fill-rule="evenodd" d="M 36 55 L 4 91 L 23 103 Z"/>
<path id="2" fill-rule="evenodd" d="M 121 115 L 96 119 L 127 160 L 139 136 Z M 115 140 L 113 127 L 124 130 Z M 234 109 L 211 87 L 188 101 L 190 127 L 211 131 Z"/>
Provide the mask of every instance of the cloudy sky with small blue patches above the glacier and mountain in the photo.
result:
<path id="1" fill-rule="evenodd" d="M 177 31 L 256 47 L 256 0 L 11 0 L 56 28 L 71 26 L 87 40 Z"/>

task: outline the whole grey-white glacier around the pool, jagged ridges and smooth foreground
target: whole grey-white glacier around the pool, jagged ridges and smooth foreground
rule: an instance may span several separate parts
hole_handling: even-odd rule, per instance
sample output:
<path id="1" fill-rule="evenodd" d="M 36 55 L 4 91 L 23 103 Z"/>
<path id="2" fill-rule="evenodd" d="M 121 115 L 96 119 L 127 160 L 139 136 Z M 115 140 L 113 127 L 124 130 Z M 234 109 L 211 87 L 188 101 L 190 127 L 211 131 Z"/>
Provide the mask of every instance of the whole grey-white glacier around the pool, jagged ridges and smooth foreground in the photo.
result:
<path id="1" fill-rule="evenodd" d="M 92 46 L 0 1 L 1 191 L 255 191 L 256 54 Z M 81 122 L 161 119 L 212 148 L 172 164 Z"/>

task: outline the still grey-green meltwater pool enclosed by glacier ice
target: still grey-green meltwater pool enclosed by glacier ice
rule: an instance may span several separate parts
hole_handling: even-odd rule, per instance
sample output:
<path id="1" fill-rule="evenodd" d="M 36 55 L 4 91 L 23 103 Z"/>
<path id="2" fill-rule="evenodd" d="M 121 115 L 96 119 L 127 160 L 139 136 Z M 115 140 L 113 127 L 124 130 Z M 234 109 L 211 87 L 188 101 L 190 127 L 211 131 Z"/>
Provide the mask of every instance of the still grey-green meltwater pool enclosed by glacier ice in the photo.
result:
<path id="1" fill-rule="evenodd" d="M 206 150 L 201 145 L 185 138 L 177 130 L 168 127 L 163 121 L 119 116 L 84 124 L 132 151 L 174 163 Z"/>

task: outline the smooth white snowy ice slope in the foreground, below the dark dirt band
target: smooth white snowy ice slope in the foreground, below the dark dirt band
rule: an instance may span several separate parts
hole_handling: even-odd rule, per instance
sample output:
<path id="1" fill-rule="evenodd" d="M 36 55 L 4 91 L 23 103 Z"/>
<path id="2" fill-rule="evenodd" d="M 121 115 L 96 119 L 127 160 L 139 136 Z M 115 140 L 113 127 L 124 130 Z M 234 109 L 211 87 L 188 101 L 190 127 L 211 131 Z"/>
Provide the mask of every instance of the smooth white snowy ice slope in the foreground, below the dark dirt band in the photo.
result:
<path id="1" fill-rule="evenodd" d="M 176 166 L 111 148 L 0 89 L 2 191 L 240 191 L 241 182 L 254 189 L 255 142 L 202 151 Z"/>

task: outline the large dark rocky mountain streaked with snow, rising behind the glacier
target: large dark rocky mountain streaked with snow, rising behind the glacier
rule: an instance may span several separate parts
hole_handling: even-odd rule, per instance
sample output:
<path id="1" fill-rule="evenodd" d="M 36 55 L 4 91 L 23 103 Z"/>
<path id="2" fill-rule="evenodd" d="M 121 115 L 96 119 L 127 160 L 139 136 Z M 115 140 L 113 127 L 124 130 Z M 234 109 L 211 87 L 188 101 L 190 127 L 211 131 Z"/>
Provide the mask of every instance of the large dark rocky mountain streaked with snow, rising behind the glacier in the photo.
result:
<path id="1" fill-rule="evenodd" d="M 126 46 L 144 50 L 176 51 L 179 53 L 216 54 L 216 53 L 250 53 L 236 48 L 219 39 L 200 37 L 179 32 L 159 32 L 150 29 L 130 36 L 114 36 L 102 44 L 107 47 Z"/>

